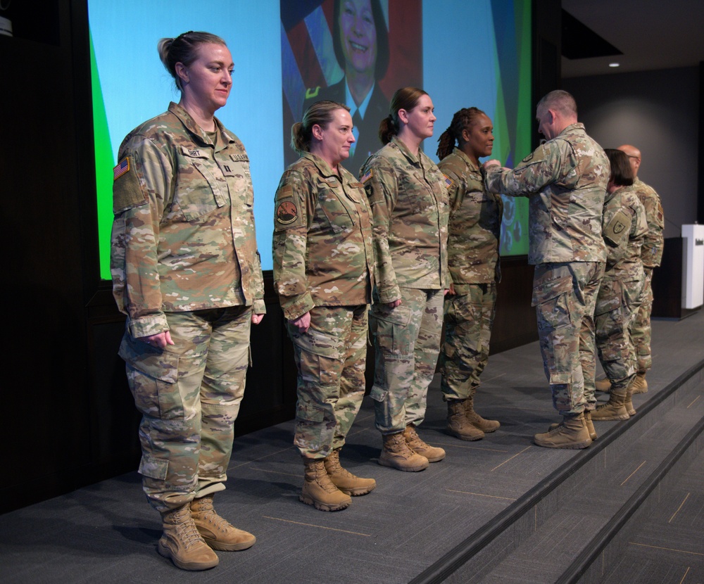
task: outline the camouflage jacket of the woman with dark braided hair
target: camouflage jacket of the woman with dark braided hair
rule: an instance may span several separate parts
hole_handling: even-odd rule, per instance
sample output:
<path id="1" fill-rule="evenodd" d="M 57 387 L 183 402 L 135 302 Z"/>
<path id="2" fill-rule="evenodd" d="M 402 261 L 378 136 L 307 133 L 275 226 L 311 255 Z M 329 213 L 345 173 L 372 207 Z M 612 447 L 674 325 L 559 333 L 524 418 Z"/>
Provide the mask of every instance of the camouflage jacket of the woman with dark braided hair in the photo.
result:
<path id="1" fill-rule="evenodd" d="M 500 281 L 501 195 L 484 189 L 484 168 L 477 168 L 459 148 L 438 166 L 448 184 L 447 262 L 455 292 L 466 293 L 464 284 Z"/>

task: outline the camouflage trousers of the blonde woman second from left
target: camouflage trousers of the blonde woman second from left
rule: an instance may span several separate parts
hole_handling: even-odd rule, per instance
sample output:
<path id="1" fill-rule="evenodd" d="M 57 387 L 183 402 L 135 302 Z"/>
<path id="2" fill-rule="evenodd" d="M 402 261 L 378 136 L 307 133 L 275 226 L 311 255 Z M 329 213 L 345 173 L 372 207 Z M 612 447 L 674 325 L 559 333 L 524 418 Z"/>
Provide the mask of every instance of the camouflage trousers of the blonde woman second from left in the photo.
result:
<path id="1" fill-rule="evenodd" d="M 287 324 L 298 367 L 294 444 L 304 458 L 341 448 L 364 397 L 367 305 L 318 306 L 305 333 Z"/>

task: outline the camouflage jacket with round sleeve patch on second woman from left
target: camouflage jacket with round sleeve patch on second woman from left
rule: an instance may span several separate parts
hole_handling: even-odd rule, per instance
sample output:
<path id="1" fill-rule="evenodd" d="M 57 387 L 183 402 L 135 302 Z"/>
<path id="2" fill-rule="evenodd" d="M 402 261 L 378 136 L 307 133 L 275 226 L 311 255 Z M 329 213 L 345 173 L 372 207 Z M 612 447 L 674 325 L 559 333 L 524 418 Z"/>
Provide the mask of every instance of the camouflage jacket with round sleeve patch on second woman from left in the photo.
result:
<path id="1" fill-rule="evenodd" d="M 356 177 L 310 153 L 289 166 L 276 191 L 274 283 L 287 319 L 315 306 L 371 302 L 372 212 Z"/>

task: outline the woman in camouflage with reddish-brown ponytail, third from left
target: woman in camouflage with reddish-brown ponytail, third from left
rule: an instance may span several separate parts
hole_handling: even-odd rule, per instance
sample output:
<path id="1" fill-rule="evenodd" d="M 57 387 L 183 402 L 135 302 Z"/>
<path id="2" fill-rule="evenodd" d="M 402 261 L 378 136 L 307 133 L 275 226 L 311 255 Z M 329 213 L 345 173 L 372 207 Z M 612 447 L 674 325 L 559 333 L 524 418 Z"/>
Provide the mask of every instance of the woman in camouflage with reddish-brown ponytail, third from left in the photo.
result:
<path id="1" fill-rule="evenodd" d="M 415 428 L 425 417 L 437 363 L 447 271 L 447 189 L 420 150 L 433 133 L 433 104 L 421 89 L 398 89 L 382 120 L 385 144 L 362 167 L 374 215 L 376 368 L 371 397 L 384 447 L 379 464 L 421 471 L 445 451 Z"/>

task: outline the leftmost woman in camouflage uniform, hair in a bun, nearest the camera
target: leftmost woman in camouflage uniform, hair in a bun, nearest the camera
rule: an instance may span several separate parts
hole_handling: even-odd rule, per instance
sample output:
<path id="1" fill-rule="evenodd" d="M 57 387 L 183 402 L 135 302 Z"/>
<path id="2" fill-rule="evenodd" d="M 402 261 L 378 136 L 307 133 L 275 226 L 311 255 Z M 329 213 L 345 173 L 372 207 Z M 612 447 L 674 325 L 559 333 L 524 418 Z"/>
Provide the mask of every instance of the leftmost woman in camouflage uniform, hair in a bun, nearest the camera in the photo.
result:
<path id="1" fill-rule="evenodd" d="M 220 37 L 158 43 L 179 103 L 127 134 L 113 183 L 111 271 L 127 315 L 120 356 L 142 412 L 144 492 L 161 512 L 158 552 L 184 570 L 256 541 L 213 509 L 225 489 L 251 323 L 263 318 L 249 158 L 215 111 L 232 89 Z"/>

